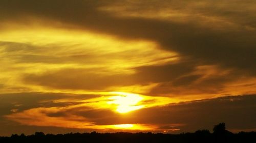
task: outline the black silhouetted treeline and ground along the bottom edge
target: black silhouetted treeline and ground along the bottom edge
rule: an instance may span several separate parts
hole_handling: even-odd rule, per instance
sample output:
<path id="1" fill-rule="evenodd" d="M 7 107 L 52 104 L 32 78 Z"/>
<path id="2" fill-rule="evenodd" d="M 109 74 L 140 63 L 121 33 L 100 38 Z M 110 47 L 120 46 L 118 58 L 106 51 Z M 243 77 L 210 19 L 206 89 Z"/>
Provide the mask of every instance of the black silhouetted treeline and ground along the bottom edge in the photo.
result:
<path id="1" fill-rule="evenodd" d="M 44 134 L 35 132 L 33 135 L 17 135 L 0 137 L 0 142 L 256 142 L 256 132 L 232 133 L 227 131 L 225 123 L 214 126 L 214 132 L 198 130 L 194 133 L 163 134 L 163 133 L 68 133 Z"/>

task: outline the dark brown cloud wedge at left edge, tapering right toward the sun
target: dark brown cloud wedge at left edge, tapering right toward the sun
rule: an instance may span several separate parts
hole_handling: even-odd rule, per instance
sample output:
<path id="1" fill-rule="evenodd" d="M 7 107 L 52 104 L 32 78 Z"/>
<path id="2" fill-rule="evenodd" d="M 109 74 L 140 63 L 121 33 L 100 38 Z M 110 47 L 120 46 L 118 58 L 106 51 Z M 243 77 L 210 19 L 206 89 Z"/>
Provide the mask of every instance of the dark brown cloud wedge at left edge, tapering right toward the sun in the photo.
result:
<path id="1" fill-rule="evenodd" d="M 64 93 L 11 93 L 0 94 L 0 116 L 11 113 L 12 109 L 23 111 L 36 107 L 65 106 L 72 102 L 54 103 L 57 99 L 88 99 L 97 95 L 75 95 Z M 77 103 L 75 103 L 77 104 Z"/>

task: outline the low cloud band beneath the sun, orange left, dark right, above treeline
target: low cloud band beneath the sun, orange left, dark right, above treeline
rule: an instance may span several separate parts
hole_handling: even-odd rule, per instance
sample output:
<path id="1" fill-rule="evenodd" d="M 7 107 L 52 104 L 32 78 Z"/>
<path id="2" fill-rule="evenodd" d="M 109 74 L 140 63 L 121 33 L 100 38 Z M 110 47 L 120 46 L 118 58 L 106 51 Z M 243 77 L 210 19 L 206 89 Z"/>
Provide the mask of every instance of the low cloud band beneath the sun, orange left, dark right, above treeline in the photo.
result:
<path id="1" fill-rule="evenodd" d="M 101 127 L 110 127 L 113 124 L 144 124 L 155 125 L 159 130 L 180 129 L 180 132 L 186 132 L 197 129 L 211 130 L 212 125 L 226 122 L 228 130 L 253 129 L 256 126 L 254 123 L 256 117 L 253 116 L 255 97 L 255 95 L 227 96 L 174 103 L 133 111 L 127 116 L 102 109 L 90 110 L 83 109 L 82 106 L 79 108 L 65 106 L 31 108 L 5 117 L 24 125 L 64 128 L 102 129 Z M 87 123 L 88 125 L 84 125 Z"/>

